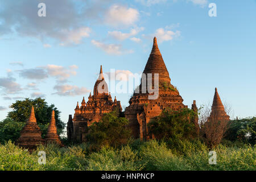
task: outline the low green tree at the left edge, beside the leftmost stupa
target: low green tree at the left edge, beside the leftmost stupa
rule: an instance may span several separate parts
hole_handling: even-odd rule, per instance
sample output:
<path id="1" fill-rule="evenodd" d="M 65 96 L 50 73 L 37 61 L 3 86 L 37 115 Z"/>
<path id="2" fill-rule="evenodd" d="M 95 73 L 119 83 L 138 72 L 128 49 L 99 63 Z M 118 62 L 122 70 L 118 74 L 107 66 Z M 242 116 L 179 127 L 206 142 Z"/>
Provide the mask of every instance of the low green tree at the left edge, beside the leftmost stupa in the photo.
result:
<path id="1" fill-rule="evenodd" d="M 10 118 L 4 119 L 0 122 L 0 143 L 11 140 L 15 142 L 19 138 L 20 131 L 25 123 L 13 121 Z"/>

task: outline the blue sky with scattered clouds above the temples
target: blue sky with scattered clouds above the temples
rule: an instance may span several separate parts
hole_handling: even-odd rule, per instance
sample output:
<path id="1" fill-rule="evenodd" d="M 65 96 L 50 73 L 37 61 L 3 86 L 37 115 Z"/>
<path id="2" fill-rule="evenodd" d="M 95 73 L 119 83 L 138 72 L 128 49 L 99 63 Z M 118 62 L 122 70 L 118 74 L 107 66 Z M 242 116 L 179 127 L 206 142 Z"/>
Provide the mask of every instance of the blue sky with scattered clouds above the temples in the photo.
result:
<path id="1" fill-rule="evenodd" d="M 154 36 L 185 105 L 212 102 L 217 87 L 231 118 L 253 117 L 255 22 L 254 0 L 0 0 L 0 121 L 16 100 L 43 97 L 67 123 L 100 65 L 123 75 L 115 86 L 143 72 Z M 132 93 L 111 94 L 129 105 Z"/>

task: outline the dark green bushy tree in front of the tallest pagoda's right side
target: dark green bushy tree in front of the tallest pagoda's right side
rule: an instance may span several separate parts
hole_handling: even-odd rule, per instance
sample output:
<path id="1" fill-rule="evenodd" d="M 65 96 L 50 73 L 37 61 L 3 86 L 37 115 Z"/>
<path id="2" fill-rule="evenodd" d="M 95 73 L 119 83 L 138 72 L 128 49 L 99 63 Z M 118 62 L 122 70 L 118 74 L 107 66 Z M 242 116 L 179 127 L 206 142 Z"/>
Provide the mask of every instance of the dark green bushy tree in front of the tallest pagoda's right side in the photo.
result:
<path id="1" fill-rule="evenodd" d="M 174 111 L 163 110 L 155 121 L 149 123 L 149 130 L 156 139 L 175 140 L 190 139 L 196 137 L 195 124 L 192 118 L 196 113 L 191 109 Z"/>

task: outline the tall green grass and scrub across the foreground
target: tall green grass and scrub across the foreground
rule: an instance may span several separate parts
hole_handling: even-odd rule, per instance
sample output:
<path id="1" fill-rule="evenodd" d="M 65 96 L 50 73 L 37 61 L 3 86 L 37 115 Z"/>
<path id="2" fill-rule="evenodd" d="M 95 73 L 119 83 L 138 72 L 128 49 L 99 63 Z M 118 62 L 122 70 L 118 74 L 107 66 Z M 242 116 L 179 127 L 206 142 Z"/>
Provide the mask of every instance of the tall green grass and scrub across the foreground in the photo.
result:
<path id="1" fill-rule="evenodd" d="M 255 170 L 255 146 L 224 146 L 213 149 L 217 164 L 210 165 L 209 150 L 200 141 L 175 145 L 134 140 L 121 148 L 102 147 L 90 151 L 89 144 L 59 148 L 39 146 L 31 154 L 12 142 L 0 146 L 0 170 Z M 46 164 L 38 164 L 39 151 L 46 152 Z"/>

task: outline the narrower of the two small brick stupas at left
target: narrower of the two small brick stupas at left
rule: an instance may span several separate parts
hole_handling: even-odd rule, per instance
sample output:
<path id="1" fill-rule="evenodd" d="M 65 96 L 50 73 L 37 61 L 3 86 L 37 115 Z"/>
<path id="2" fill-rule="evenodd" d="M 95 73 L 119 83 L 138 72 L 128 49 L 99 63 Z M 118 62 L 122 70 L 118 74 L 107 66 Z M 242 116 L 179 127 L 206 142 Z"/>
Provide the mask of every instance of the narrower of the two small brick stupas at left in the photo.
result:
<path id="1" fill-rule="evenodd" d="M 49 123 L 45 139 L 46 139 L 47 143 L 55 142 L 55 143 L 59 144 L 59 146 L 63 146 L 63 144 L 60 141 L 60 137 L 57 134 L 57 128 L 56 128 L 56 122 L 55 122 L 55 111 L 54 110 L 52 110 L 51 122 Z"/>

